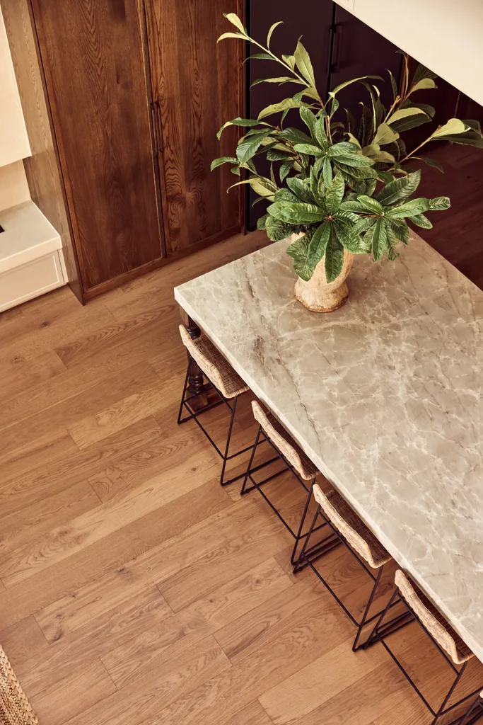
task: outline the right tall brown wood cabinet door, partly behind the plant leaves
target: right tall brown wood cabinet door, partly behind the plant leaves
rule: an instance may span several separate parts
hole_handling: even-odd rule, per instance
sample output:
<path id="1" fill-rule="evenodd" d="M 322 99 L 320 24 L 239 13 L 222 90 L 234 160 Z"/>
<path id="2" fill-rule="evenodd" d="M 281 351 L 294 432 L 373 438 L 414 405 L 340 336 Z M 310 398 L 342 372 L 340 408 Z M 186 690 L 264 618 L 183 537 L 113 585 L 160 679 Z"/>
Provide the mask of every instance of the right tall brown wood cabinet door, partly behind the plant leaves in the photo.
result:
<path id="1" fill-rule="evenodd" d="M 146 0 L 153 95 L 161 132 L 161 193 L 167 254 L 240 230 L 239 181 L 229 165 L 238 138 L 224 121 L 243 115 L 243 43 L 217 38 L 233 26 L 224 12 L 242 15 L 241 0 Z M 242 15 L 243 17 L 243 15 Z M 240 188 L 240 187 L 239 187 Z"/>

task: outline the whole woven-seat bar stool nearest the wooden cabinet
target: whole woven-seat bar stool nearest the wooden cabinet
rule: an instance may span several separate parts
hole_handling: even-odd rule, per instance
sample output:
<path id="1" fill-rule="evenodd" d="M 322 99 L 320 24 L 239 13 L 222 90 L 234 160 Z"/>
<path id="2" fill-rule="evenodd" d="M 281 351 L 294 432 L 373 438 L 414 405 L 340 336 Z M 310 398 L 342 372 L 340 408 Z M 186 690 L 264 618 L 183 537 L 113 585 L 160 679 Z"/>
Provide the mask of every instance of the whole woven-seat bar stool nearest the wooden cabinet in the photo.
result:
<path id="1" fill-rule="evenodd" d="M 218 455 L 223 460 L 222 473 L 219 482 L 222 486 L 227 486 L 228 484 L 232 484 L 233 481 L 238 481 L 238 479 L 245 475 L 245 473 L 240 473 L 240 475 L 235 476 L 228 481 L 225 481 L 224 471 L 227 465 L 227 461 L 232 460 L 232 458 L 235 458 L 238 455 L 241 455 L 242 453 L 251 450 L 251 446 L 248 446 L 246 448 L 243 448 L 243 450 L 239 450 L 236 453 L 232 453 L 229 455 L 230 440 L 232 436 L 233 421 L 235 421 L 235 411 L 237 407 L 238 396 L 247 392 L 249 388 L 248 385 L 245 385 L 238 373 L 235 373 L 235 370 L 233 370 L 230 363 L 225 360 L 222 353 L 219 352 L 219 350 L 214 346 L 211 340 L 209 340 L 206 336 L 201 335 L 193 339 L 183 325 L 180 325 L 180 334 L 182 343 L 188 350 L 188 369 L 186 370 L 185 384 L 182 389 L 180 412 L 178 414 L 177 422 L 178 424 L 180 424 L 186 423 L 186 421 L 194 420 L 198 424 L 199 428 L 201 428 L 201 431 L 203 431 L 203 434 L 205 434 L 206 438 L 214 447 L 214 450 L 217 451 Z M 204 378 L 206 378 L 206 383 L 203 385 L 201 391 L 198 391 L 195 394 L 188 394 L 187 396 L 190 369 L 193 360 L 198 364 L 198 367 L 203 373 Z M 219 400 L 217 400 L 217 402 L 215 403 L 212 403 L 211 405 L 206 405 L 202 407 L 201 410 L 193 410 L 193 407 L 190 406 L 190 402 L 192 402 L 193 399 L 198 398 L 200 394 L 209 392 L 210 390 L 213 390 L 217 394 Z M 230 405 L 230 400 L 232 400 L 232 405 Z M 230 424 L 228 426 L 227 440 L 224 446 L 224 452 L 219 450 L 219 447 L 211 438 L 208 431 L 206 431 L 206 428 L 204 428 L 198 420 L 198 418 L 203 415 L 203 413 L 206 413 L 208 410 L 212 410 L 218 405 L 223 404 L 226 405 L 227 408 L 230 410 Z M 188 410 L 189 415 L 186 415 L 185 418 L 182 418 L 182 413 L 185 409 Z"/>

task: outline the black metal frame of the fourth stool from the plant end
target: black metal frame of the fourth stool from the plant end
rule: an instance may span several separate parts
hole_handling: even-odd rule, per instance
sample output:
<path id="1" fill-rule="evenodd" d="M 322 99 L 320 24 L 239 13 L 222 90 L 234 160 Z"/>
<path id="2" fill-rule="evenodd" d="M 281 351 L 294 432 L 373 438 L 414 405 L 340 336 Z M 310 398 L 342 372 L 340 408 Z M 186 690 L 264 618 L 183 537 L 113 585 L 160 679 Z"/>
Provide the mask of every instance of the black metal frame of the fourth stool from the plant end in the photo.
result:
<path id="1" fill-rule="evenodd" d="M 406 610 L 407 610 L 406 616 L 409 615 L 411 617 L 408 621 L 408 624 L 410 624 L 411 621 L 416 621 L 419 624 L 421 629 L 425 632 L 425 634 L 427 634 L 429 639 L 431 639 L 434 646 L 437 647 L 437 650 L 439 650 L 439 652 L 445 658 L 445 660 L 448 663 L 448 665 L 450 666 L 450 668 L 455 673 L 455 679 L 453 680 L 453 684 L 451 685 L 451 687 L 448 691 L 448 695 L 446 695 L 445 699 L 442 701 L 442 704 L 440 705 L 440 708 L 437 711 L 435 711 L 432 708 L 432 706 L 429 705 L 426 697 L 424 697 L 424 695 L 422 694 L 419 687 L 416 685 L 416 683 L 413 681 L 413 679 L 411 679 L 411 676 L 408 675 L 406 670 L 400 664 L 398 658 L 395 656 L 395 654 L 392 652 L 390 647 L 387 645 L 387 642 L 385 640 L 390 634 L 392 634 L 392 631 L 379 631 L 379 626 L 382 624 L 382 621 L 384 621 L 384 618 L 385 618 L 387 612 L 389 611 L 390 607 L 393 606 L 394 604 L 398 604 L 399 602 L 402 602 L 403 605 L 406 607 Z M 450 711 L 454 710 L 454 708 L 457 708 L 458 705 L 461 705 L 462 703 L 464 703 L 465 700 L 469 700 L 470 697 L 474 697 L 476 694 L 479 694 L 479 692 L 481 692 L 481 690 L 483 689 L 483 684 L 482 684 L 482 685 L 480 685 L 480 687 L 478 689 L 474 690 L 474 692 L 470 692 L 469 695 L 466 695 L 465 697 L 462 697 L 461 700 L 458 700 L 457 703 L 453 703 L 453 705 L 450 705 L 450 707 L 446 707 L 446 705 L 448 705 L 448 701 L 450 700 L 451 695 L 453 695 L 453 692 L 455 691 L 455 688 L 458 686 L 459 682 L 461 682 L 461 677 L 463 676 L 463 673 L 466 670 L 468 661 L 464 662 L 459 669 L 458 669 L 458 667 L 455 666 L 453 661 L 448 657 L 447 653 L 445 653 L 445 650 L 443 650 L 442 647 L 440 647 L 440 645 L 438 645 L 438 643 L 432 636 L 431 632 L 429 632 L 426 629 L 424 624 L 422 624 L 422 622 L 419 620 L 419 617 L 416 615 L 416 613 L 414 613 L 413 610 L 408 606 L 406 600 L 404 600 L 404 597 L 400 594 L 398 587 L 395 588 L 395 591 L 393 592 L 392 597 L 390 598 L 389 602 L 387 602 L 387 607 L 379 616 L 379 620 L 377 621 L 376 626 L 374 626 L 374 629 L 371 632 L 371 636 L 369 637 L 369 639 L 367 640 L 365 645 L 363 645 L 363 647 L 364 647 L 364 649 L 367 649 L 368 647 L 371 647 L 372 645 L 374 645 L 376 642 L 381 642 L 382 646 L 385 647 L 385 650 L 387 651 L 387 653 L 389 653 L 392 660 L 396 663 L 396 665 L 398 666 L 400 671 L 406 677 L 407 681 L 409 682 L 409 684 L 411 685 L 413 690 L 419 695 L 419 697 L 423 701 L 424 705 L 426 705 L 429 712 L 432 714 L 434 720 L 432 721 L 431 725 L 437 725 L 437 721 L 440 718 L 442 718 L 445 715 L 448 715 L 448 713 L 450 713 Z M 476 703 L 474 703 L 474 704 L 476 704 Z M 457 724 L 463 725 L 463 723 L 465 723 L 465 720 L 463 718 L 467 718 L 469 716 L 469 714 L 470 713 L 466 713 L 466 715 L 460 715 L 455 720 L 452 720 L 450 723 L 447 723 L 445 725 L 457 725 Z M 469 725 L 473 722 L 475 722 L 474 719 L 466 720 L 466 725 Z"/>

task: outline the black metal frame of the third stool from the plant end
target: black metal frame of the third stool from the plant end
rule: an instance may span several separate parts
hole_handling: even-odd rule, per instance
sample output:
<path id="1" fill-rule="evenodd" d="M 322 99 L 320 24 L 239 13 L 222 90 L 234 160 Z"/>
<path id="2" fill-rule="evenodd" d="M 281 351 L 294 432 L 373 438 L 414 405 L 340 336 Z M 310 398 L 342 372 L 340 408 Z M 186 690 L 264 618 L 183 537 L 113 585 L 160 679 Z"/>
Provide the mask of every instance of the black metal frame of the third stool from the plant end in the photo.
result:
<path id="1" fill-rule="evenodd" d="M 312 491 L 309 491 L 308 497 L 307 497 L 306 508 L 304 510 L 304 517 L 306 516 L 306 513 L 308 511 L 308 505 L 310 503 L 311 496 L 312 496 Z M 361 621 L 357 621 L 357 619 L 353 616 L 353 614 L 345 606 L 343 601 L 340 600 L 340 597 L 337 597 L 335 591 L 332 589 L 332 587 L 330 587 L 330 585 L 324 579 L 322 574 L 314 566 L 314 562 L 316 562 L 317 560 L 322 558 L 322 556 L 324 556 L 324 554 L 327 553 L 327 550 L 324 546 L 325 539 L 322 542 L 319 542 L 318 544 L 314 544 L 313 547 L 310 547 L 308 549 L 306 548 L 308 542 L 310 541 L 312 533 L 314 531 L 316 531 L 315 525 L 316 525 L 317 519 L 319 517 L 323 519 L 323 521 L 325 522 L 325 524 L 327 526 L 329 526 L 329 529 L 332 529 L 331 536 L 336 537 L 338 544 L 343 544 L 345 546 L 345 548 L 348 550 L 348 552 L 350 552 L 350 554 L 353 556 L 353 558 L 355 558 L 356 561 L 358 561 L 358 563 L 361 565 L 361 567 L 365 569 L 365 571 L 368 573 L 368 575 L 374 582 L 372 591 L 371 591 L 371 595 L 369 596 L 369 600 L 366 604 L 366 608 L 364 609 L 364 614 L 361 618 Z M 301 521 L 301 527 L 302 526 L 303 526 L 303 521 Z M 384 569 L 384 565 L 379 566 L 379 569 L 377 570 L 377 576 L 374 576 L 374 574 L 371 572 L 369 567 L 366 566 L 364 561 L 361 560 L 361 558 L 359 558 L 358 555 L 356 555 L 356 552 L 353 551 L 352 547 L 350 547 L 350 544 L 348 544 L 348 542 L 345 541 L 345 538 L 340 533 L 340 531 L 337 531 L 337 529 L 335 529 L 335 526 L 332 526 L 332 523 L 327 518 L 325 518 L 324 514 L 322 513 L 322 506 L 319 504 L 317 506 L 316 513 L 314 515 L 314 519 L 311 523 L 311 527 L 310 527 L 310 529 L 308 529 L 308 534 L 306 534 L 306 538 L 303 543 L 300 557 L 299 557 L 298 561 L 295 563 L 295 567 L 294 567 L 293 571 L 294 571 L 294 573 L 297 573 L 298 571 L 301 571 L 301 569 L 305 568 L 306 566 L 310 566 L 311 570 L 314 572 L 314 574 L 317 576 L 317 578 L 320 581 L 322 581 L 322 584 L 324 584 L 324 587 L 332 595 L 332 597 L 334 597 L 335 601 L 340 606 L 340 608 L 343 609 L 343 611 L 348 616 L 348 618 L 350 619 L 352 624 L 354 626 L 356 626 L 357 634 L 356 634 L 356 639 L 354 639 L 354 642 L 352 645 L 352 651 L 357 652 L 358 650 L 361 650 L 361 648 L 365 646 L 365 643 L 362 645 L 359 644 L 359 639 L 361 637 L 361 633 L 362 633 L 364 627 L 366 627 L 372 621 L 379 618 L 382 615 L 382 613 L 384 613 L 387 610 L 387 608 L 385 608 L 384 610 L 381 610 L 381 611 L 377 612 L 376 614 L 374 614 L 373 616 L 368 618 L 371 604 L 374 601 L 374 597 L 376 595 L 377 588 L 379 587 L 379 582 L 381 581 L 381 576 L 382 576 L 382 571 Z M 395 604 L 397 604 L 397 603 L 398 602 L 395 602 Z M 392 605 L 392 606 L 394 606 L 394 605 Z M 404 613 L 403 615 L 400 615 L 400 616 L 396 616 L 390 622 L 388 622 L 387 628 L 390 628 L 390 631 L 397 631 L 398 629 L 402 629 L 403 626 L 406 626 L 406 624 L 408 624 L 408 622 L 404 621 L 404 619 L 406 619 L 406 613 Z M 369 639 L 370 639 L 370 637 L 369 637 Z"/>

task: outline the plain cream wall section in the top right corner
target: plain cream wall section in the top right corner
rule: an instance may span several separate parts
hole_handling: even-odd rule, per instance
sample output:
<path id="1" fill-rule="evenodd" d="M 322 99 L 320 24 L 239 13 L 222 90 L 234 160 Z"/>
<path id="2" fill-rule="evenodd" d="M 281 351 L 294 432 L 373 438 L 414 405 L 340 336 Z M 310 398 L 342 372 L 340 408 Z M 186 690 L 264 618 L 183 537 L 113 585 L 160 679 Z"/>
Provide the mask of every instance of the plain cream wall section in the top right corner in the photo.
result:
<path id="1" fill-rule="evenodd" d="M 483 0 L 335 1 L 483 105 Z"/>

